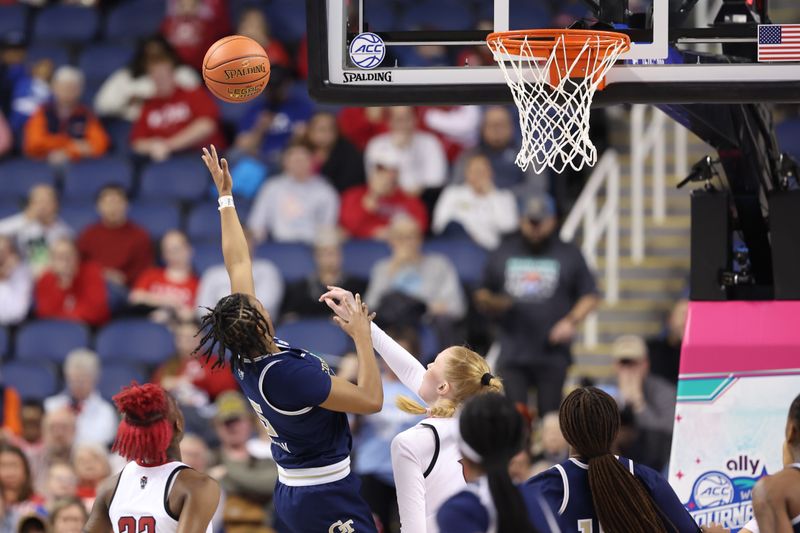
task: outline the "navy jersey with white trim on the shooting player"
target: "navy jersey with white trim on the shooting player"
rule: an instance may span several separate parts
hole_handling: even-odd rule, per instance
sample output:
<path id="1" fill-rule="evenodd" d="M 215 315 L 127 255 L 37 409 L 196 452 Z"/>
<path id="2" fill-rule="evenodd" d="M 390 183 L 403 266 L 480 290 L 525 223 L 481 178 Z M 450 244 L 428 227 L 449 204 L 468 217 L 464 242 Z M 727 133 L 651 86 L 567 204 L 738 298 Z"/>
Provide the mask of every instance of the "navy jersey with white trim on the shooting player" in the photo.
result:
<path id="1" fill-rule="evenodd" d="M 347 415 L 319 407 L 333 371 L 322 358 L 274 340 L 280 352 L 245 361 L 234 375 L 272 438 L 275 462 L 315 468 L 346 459 L 352 445 Z"/>

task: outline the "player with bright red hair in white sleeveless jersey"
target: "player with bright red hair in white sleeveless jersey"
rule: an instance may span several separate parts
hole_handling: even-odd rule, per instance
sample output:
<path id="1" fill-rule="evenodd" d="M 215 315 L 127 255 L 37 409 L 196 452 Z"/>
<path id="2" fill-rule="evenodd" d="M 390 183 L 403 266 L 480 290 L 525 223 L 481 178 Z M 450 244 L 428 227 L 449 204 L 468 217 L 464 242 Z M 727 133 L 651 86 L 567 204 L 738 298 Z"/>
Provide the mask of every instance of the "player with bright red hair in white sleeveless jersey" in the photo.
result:
<path id="1" fill-rule="evenodd" d="M 85 533 L 211 533 L 216 481 L 181 462 L 183 415 L 158 385 L 114 396 L 122 416 L 113 451 L 130 462 L 97 492 Z"/>

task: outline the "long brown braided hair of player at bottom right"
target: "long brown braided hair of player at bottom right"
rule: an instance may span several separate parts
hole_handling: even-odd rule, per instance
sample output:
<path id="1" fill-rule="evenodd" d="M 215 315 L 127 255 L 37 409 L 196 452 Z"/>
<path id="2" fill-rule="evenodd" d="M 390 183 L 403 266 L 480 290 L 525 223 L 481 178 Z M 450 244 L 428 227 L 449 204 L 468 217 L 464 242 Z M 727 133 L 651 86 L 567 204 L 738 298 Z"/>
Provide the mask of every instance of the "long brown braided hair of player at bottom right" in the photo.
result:
<path id="1" fill-rule="evenodd" d="M 592 503 L 606 533 L 677 531 L 668 519 L 662 520 L 641 482 L 611 453 L 620 425 L 611 396 L 596 387 L 576 389 L 561 402 L 558 421 L 564 438 L 589 463 Z"/>

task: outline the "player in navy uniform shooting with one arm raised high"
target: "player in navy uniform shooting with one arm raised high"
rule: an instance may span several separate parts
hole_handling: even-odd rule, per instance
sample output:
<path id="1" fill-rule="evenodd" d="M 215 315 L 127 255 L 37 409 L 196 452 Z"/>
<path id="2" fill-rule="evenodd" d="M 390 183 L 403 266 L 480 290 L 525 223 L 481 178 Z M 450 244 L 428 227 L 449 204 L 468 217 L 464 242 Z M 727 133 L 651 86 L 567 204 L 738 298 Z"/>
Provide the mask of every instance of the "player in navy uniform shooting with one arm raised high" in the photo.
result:
<path id="1" fill-rule="evenodd" d="M 350 472 L 352 437 L 346 413 L 370 414 L 383 406 L 372 349 L 372 317 L 361 298 L 347 302 L 350 319 L 335 317 L 358 355 L 356 384 L 333 375 L 328 364 L 275 337 L 272 320 L 255 297 L 250 252 L 233 205 L 228 162 L 203 149 L 219 192 L 222 254 L 231 295 L 203 318 L 197 352 L 215 366 L 230 351 L 234 377 L 271 440 L 278 464 L 275 511 L 290 531 L 375 531 L 372 513 Z"/>

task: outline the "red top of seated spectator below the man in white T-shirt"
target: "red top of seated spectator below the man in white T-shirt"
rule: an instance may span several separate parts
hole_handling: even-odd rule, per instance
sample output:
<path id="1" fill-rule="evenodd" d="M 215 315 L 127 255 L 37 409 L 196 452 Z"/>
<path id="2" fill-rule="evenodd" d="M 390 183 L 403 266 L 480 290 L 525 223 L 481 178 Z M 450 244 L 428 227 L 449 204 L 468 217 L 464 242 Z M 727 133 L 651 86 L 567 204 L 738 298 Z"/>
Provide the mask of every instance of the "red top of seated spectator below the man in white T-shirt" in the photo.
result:
<path id="1" fill-rule="evenodd" d="M 342 207 L 339 211 L 339 223 L 351 237 L 370 239 L 375 232 L 389 225 L 397 213 L 405 213 L 414 218 L 422 231 L 428 228 L 428 212 L 419 198 L 409 196 L 399 188 L 390 196 L 378 201 L 378 209 L 374 212 L 364 209 L 364 196 L 367 186 L 351 187 L 342 194 Z"/>

